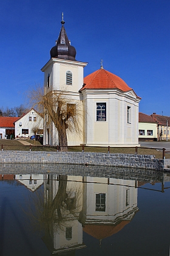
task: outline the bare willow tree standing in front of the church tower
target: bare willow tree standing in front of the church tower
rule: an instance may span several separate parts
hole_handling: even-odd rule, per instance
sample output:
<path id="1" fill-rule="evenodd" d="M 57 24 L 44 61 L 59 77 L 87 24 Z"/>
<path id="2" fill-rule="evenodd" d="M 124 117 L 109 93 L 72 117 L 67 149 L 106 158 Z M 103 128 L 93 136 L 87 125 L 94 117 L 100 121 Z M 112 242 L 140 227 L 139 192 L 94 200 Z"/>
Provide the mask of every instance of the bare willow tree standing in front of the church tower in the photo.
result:
<path id="1" fill-rule="evenodd" d="M 83 112 L 80 101 L 67 95 L 66 90 L 49 91 L 37 86 L 29 93 L 30 103 L 39 113 L 48 116 L 58 132 L 58 144 L 61 151 L 67 151 L 67 131 L 80 135 Z"/>

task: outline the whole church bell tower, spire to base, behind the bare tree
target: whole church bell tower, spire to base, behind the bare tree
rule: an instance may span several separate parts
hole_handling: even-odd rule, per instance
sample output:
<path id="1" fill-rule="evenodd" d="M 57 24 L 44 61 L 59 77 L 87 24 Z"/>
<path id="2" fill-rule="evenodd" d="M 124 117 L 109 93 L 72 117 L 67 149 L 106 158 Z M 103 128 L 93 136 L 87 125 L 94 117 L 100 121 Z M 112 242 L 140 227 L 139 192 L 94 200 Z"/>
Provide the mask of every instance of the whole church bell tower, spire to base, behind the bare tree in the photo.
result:
<path id="1" fill-rule="evenodd" d="M 87 65 L 87 62 L 79 62 L 75 59 L 76 49 L 70 45 L 64 24 L 65 21 L 62 15 L 58 40 L 56 40 L 55 46 L 50 50 L 49 62 L 41 69 L 44 72 L 44 94 L 50 91 L 64 91 L 66 99 L 71 104 L 75 104 L 81 101 L 79 90 L 83 87 L 83 69 Z M 76 145 L 82 143 L 82 139 L 75 141 L 68 133 L 67 142 L 68 145 Z M 58 132 L 52 121 L 49 122 L 47 114 L 44 117 L 44 144 L 53 146 L 58 144 Z"/>

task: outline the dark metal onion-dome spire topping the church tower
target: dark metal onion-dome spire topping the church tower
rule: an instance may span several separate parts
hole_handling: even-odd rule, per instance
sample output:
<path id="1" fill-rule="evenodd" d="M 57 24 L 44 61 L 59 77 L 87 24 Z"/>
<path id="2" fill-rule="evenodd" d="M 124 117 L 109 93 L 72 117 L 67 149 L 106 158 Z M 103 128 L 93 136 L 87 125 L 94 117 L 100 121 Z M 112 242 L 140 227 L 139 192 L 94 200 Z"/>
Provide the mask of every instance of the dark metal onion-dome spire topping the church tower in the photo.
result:
<path id="1" fill-rule="evenodd" d="M 67 38 L 66 30 L 64 29 L 65 21 L 62 20 L 60 35 L 58 37 L 56 46 L 54 46 L 50 51 L 51 58 L 64 59 L 64 60 L 74 60 L 76 55 L 76 50 L 70 45 L 69 39 Z"/>

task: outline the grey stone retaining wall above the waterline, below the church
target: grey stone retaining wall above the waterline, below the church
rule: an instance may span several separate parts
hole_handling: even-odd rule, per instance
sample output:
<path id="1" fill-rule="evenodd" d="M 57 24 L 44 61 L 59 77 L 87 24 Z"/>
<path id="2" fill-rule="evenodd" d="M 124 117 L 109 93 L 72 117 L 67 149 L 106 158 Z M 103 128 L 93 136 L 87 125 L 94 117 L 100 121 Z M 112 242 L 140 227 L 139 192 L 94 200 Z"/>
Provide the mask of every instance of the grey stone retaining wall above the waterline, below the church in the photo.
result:
<path id="1" fill-rule="evenodd" d="M 163 171 L 164 160 L 153 155 L 90 152 L 0 151 L 0 163 L 69 163 L 77 165 L 123 166 Z"/>

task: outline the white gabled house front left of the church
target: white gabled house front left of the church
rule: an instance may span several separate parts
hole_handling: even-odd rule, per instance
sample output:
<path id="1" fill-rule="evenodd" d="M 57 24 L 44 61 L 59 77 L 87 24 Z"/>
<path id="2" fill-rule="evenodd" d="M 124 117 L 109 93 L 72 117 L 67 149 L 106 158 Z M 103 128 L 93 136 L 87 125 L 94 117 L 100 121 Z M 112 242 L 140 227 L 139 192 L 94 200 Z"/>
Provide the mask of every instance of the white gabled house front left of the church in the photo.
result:
<path id="1" fill-rule="evenodd" d="M 15 122 L 15 137 L 29 138 L 30 136 L 35 135 L 33 129 L 37 127 L 42 131 L 43 121 L 43 118 L 32 108 Z"/>

